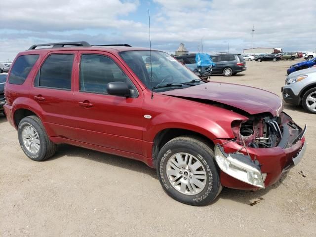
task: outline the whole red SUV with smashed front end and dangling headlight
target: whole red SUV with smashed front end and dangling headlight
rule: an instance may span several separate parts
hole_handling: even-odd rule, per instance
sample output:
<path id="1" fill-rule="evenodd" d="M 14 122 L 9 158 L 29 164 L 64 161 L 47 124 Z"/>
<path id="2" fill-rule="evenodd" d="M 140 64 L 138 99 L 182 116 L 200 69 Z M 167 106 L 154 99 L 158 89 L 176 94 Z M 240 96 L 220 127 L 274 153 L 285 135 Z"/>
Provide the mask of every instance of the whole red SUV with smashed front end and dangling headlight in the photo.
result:
<path id="1" fill-rule="evenodd" d="M 15 58 L 5 96 L 29 158 L 67 143 L 141 160 L 190 205 L 210 203 L 222 186 L 270 186 L 306 149 L 306 126 L 275 94 L 206 83 L 167 53 L 127 44 L 33 45 Z"/>

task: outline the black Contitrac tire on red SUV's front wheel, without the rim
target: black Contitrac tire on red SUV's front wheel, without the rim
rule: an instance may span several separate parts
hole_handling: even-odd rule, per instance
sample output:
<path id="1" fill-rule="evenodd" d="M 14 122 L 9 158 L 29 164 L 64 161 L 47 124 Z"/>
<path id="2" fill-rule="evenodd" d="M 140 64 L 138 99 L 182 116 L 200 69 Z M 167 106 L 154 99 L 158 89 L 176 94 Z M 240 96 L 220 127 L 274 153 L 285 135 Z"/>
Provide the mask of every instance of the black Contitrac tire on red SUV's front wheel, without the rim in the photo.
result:
<path id="1" fill-rule="evenodd" d="M 181 193 L 181 191 L 175 188 L 169 180 L 170 176 L 167 175 L 168 161 L 177 153 L 187 153 L 194 156 L 198 161 L 201 161 L 200 164 L 204 167 L 206 172 L 205 187 L 197 194 L 188 195 Z M 205 142 L 199 140 L 197 137 L 182 136 L 167 142 L 158 154 L 156 165 L 163 190 L 170 197 L 182 203 L 193 206 L 206 205 L 214 201 L 222 191 L 218 167 L 215 165 L 213 151 Z M 188 167 L 190 168 L 190 166 Z M 184 179 L 185 177 L 182 177 L 184 175 L 185 171 L 180 179 Z M 187 179 L 190 180 L 189 177 Z M 190 185 L 192 185 L 192 183 Z M 186 190 L 187 192 L 190 192 L 189 187 L 186 187 Z"/>

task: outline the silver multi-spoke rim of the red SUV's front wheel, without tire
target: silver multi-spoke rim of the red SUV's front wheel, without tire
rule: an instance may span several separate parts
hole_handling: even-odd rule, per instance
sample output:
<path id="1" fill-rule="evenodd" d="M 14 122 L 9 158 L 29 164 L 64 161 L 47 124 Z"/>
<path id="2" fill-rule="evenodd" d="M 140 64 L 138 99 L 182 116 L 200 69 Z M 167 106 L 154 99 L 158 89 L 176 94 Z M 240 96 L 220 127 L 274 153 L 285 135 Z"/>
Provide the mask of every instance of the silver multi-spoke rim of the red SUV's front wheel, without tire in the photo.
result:
<path id="1" fill-rule="evenodd" d="M 188 153 L 177 153 L 169 158 L 167 176 L 171 185 L 182 194 L 196 195 L 206 186 L 202 163 Z"/>

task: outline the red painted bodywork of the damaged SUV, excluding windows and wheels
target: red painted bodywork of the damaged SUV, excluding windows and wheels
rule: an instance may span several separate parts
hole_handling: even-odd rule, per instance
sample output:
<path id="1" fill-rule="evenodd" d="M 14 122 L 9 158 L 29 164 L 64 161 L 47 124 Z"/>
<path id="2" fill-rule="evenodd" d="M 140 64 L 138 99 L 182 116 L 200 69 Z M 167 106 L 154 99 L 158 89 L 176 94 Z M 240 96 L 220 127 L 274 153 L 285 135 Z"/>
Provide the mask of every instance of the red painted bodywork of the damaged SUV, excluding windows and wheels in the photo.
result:
<path id="1" fill-rule="evenodd" d="M 224 143 L 234 138 L 232 122 L 248 119 L 244 115 L 200 103 L 194 99 L 223 103 L 248 114 L 269 112 L 276 116 L 282 110 L 281 99 L 273 93 L 236 84 L 209 82 L 185 89 L 154 93 L 146 88 L 133 71 L 120 58 L 120 51 L 147 50 L 134 47 L 75 47 L 38 49 L 17 55 L 39 54 L 40 57 L 22 85 L 6 83 L 7 104 L 5 114 L 11 125 L 18 109 L 33 111 L 42 120 L 50 139 L 55 143 L 67 143 L 88 149 L 98 150 L 118 156 L 137 159 L 150 167 L 154 139 L 164 129 L 181 128 L 197 132 L 216 143 Z M 74 53 L 71 90 L 34 87 L 34 79 L 40 65 L 51 53 Z M 110 57 L 139 92 L 137 98 L 95 94 L 79 91 L 79 64 L 82 53 L 102 54 Z M 17 58 L 16 57 L 16 58 Z M 14 62 L 13 62 L 14 65 Z M 12 67 L 11 67 L 12 68 Z M 9 72 L 10 73 L 10 72 Z M 34 96 L 44 97 L 43 101 Z M 86 108 L 79 102 L 88 102 Z M 150 115 L 152 118 L 144 118 Z M 281 170 L 291 161 L 302 144 L 303 138 L 288 149 L 248 148 L 251 157 L 262 164 L 262 172 L 268 173 L 265 185 L 274 184 Z M 237 143 L 225 144 L 226 153 L 235 152 Z M 256 190 L 257 188 L 221 172 L 223 186 L 236 189 Z"/>

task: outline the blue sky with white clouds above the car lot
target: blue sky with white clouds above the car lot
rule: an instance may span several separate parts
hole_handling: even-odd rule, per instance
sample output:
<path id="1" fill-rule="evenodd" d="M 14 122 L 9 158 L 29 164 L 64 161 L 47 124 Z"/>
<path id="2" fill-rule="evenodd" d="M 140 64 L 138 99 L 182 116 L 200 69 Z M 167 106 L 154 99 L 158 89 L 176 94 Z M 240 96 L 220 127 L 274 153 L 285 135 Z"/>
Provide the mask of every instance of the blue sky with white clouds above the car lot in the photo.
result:
<path id="1" fill-rule="evenodd" d="M 0 62 L 32 44 L 128 43 L 174 53 L 253 47 L 316 50 L 316 0 L 6 0 L 0 7 Z"/>

